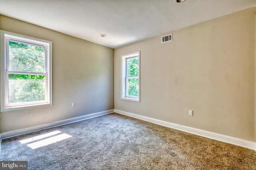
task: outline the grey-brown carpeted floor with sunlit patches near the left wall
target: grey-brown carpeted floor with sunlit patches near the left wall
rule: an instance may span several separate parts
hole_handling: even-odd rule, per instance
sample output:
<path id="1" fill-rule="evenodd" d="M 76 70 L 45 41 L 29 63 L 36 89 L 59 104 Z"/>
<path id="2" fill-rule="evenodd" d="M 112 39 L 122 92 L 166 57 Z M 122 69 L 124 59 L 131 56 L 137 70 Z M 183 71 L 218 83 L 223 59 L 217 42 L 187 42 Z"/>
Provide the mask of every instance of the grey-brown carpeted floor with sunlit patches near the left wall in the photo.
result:
<path id="1" fill-rule="evenodd" d="M 0 160 L 28 160 L 30 170 L 256 170 L 254 150 L 117 113 L 4 139 Z"/>

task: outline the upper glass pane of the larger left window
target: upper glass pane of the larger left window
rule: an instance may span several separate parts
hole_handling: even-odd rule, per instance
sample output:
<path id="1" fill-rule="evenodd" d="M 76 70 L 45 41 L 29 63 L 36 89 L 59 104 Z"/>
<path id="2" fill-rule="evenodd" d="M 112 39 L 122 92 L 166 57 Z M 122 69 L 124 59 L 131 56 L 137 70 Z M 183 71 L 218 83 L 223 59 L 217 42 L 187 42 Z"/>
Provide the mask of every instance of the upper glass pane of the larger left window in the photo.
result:
<path id="1" fill-rule="evenodd" d="M 9 41 L 9 71 L 44 72 L 44 47 Z"/>

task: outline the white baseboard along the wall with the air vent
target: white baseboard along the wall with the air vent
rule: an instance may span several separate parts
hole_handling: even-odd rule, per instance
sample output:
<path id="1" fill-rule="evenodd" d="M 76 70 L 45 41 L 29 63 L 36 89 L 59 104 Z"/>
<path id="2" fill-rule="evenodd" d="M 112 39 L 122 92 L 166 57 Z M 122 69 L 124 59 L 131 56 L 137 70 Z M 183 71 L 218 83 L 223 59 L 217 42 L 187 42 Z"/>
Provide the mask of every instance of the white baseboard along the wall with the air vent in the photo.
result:
<path id="1" fill-rule="evenodd" d="M 218 141 L 222 141 L 222 142 L 230 143 L 230 144 L 233 144 L 233 145 L 238 145 L 238 146 L 241 146 L 241 147 L 256 150 L 256 143 L 255 142 L 246 141 L 244 139 L 239 139 L 239 138 L 236 138 L 236 137 L 230 137 L 230 136 L 227 136 L 227 135 L 222 135 L 222 134 L 214 133 L 214 132 L 210 132 L 210 131 L 204 131 L 202 129 L 196 129 L 196 128 L 193 128 L 193 127 L 179 125 L 179 124 L 176 124 L 176 123 L 170 123 L 170 122 L 167 122 L 167 121 L 162 121 L 162 120 L 158 120 L 158 119 L 154 119 L 154 118 L 150 118 L 150 117 L 146 117 L 146 116 L 142 116 L 142 115 L 137 115 L 137 114 L 134 114 L 134 113 L 128 113 L 126 111 L 121 111 L 121 110 L 117 110 L 117 109 L 114 109 L 114 112 L 122 114 L 122 115 L 130 116 L 130 117 L 134 117 L 136 119 L 141 119 L 141 120 L 144 120 L 144 121 L 155 123 L 155 124 L 158 124 L 158 125 L 170 127 L 172 129 L 177 129 L 177 130 L 180 130 L 180 131 L 192 133 L 192 134 L 199 135 L 199 136 L 202 136 L 202 137 L 207 137 L 207 138 L 210 138 L 210 139 L 215 139 L 215 140 L 218 140 Z"/>

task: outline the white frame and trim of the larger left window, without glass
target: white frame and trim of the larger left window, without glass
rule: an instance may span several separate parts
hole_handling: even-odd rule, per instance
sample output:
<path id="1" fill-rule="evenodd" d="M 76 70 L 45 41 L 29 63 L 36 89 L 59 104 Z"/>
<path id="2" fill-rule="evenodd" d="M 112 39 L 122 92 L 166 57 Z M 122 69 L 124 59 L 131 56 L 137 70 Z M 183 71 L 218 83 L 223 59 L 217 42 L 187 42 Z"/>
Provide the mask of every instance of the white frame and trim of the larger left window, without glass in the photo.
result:
<path id="1" fill-rule="evenodd" d="M 45 48 L 45 72 L 15 72 L 8 70 L 8 42 L 20 42 Z M 52 42 L 0 30 L 0 111 L 13 111 L 31 107 L 52 106 Z M 46 76 L 46 100 L 8 104 L 8 74 L 33 74 Z"/>

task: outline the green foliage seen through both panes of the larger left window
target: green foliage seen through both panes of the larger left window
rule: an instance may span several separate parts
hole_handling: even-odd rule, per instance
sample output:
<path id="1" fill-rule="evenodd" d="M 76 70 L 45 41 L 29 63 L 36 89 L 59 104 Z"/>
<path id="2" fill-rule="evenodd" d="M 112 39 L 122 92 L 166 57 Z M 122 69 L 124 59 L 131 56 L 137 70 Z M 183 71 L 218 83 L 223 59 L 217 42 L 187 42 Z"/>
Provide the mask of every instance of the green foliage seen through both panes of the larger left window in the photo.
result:
<path id="1" fill-rule="evenodd" d="M 9 70 L 44 72 L 44 47 L 9 41 Z M 45 75 L 9 74 L 9 103 L 45 100 Z"/>

